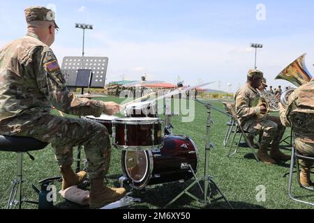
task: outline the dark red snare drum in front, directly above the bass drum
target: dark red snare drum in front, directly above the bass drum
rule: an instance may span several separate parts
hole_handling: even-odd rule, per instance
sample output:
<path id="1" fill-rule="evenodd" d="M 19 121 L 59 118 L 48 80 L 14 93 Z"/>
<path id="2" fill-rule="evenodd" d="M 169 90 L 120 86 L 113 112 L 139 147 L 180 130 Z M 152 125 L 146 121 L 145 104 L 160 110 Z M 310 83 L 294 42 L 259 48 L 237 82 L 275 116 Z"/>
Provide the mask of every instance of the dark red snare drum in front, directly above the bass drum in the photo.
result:
<path id="1" fill-rule="evenodd" d="M 163 147 L 163 121 L 159 118 L 116 118 L 112 141 L 123 150 L 141 151 Z"/>

